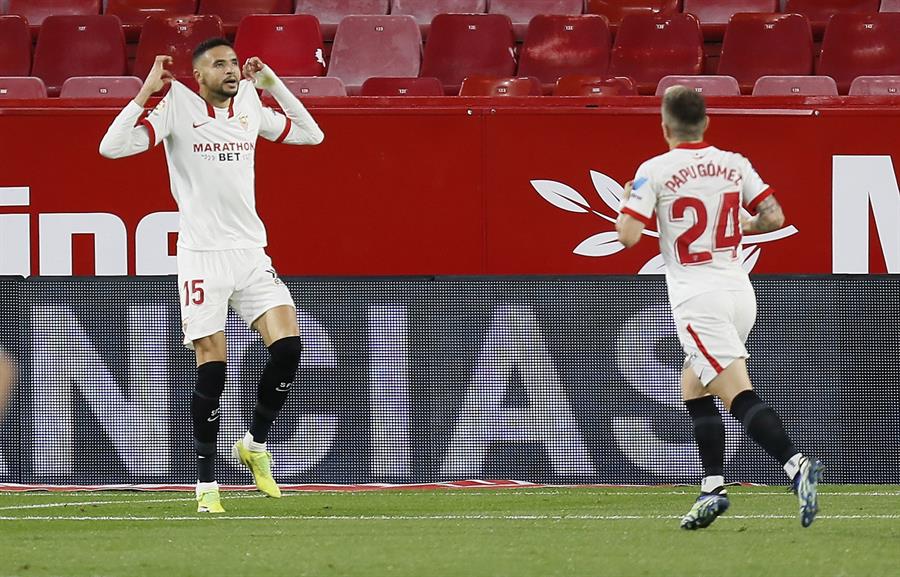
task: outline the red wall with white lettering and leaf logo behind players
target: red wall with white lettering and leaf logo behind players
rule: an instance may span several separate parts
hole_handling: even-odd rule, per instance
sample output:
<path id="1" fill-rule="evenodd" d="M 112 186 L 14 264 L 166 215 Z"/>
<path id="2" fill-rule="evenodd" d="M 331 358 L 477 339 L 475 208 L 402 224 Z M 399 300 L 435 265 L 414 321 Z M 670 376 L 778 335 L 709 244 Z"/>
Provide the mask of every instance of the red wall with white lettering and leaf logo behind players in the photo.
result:
<path id="1" fill-rule="evenodd" d="M 602 235 L 613 231 L 615 203 L 598 192 L 615 191 L 612 181 L 624 183 L 665 150 L 658 100 L 390 100 L 323 100 L 311 108 L 324 144 L 260 144 L 258 209 L 281 274 L 634 274 L 659 254 L 648 237 L 616 250 Z M 900 272 L 900 111 L 852 99 L 752 102 L 762 104 L 713 102 L 708 140 L 751 159 L 793 226 L 783 238 L 748 239 L 754 272 Z M 165 235 L 139 231 L 148 215 L 175 210 L 162 147 L 102 158 L 97 146 L 115 113 L 0 108 L 0 274 L 174 271 L 165 258 L 172 235 L 166 245 Z M 858 189 L 848 192 L 848 182 Z M 83 213 L 93 215 L 86 228 L 67 220 Z M 90 234 L 91 219 L 106 222 L 106 233 Z M 171 215 L 151 221 L 174 228 Z"/>

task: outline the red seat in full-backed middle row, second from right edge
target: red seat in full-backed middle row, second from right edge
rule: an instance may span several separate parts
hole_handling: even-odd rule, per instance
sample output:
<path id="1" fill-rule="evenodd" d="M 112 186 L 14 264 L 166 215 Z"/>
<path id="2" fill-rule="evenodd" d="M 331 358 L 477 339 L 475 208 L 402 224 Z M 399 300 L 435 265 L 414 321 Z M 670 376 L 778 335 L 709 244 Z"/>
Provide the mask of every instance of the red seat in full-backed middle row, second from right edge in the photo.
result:
<path id="1" fill-rule="evenodd" d="M 718 73 L 749 94 L 760 76 L 813 73 L 809 21 L 799 14 L 735 14 L 725 31 Z"/>

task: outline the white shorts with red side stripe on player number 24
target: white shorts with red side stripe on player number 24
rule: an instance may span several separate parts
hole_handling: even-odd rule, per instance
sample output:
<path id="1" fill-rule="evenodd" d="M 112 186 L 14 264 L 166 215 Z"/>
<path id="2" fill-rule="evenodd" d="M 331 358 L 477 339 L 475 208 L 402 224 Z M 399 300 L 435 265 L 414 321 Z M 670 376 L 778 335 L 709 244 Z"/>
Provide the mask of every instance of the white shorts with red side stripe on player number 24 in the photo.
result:
<path id="1" fill-rule="evenodd" d="M 696 296 L 672 309 L 685 368 L 703 386 L 737 359 L 750 356 L 744 343 L 756 322 L 753 290 L 717 291 Z"/>

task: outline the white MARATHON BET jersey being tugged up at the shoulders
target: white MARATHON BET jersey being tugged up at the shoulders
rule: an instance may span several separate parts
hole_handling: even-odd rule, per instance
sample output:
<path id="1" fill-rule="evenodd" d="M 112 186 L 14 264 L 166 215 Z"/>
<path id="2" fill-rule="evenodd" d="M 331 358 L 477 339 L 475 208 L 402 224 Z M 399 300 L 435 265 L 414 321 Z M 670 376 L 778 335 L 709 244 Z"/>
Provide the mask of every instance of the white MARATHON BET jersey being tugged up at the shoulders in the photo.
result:
<path id="1" fill-rule="evenodd" d="M 169 93 L 141 121 L 150 145 L 163 142 L 172 196 L 178 203 L 178 246 L 229 250 L 266 246 L 256 213 L 257 136 L 281 142 L 291 122 L 264 107 L 253 83 L 240 82 L 228 108 L 217 109 L 173 81 Z"/>

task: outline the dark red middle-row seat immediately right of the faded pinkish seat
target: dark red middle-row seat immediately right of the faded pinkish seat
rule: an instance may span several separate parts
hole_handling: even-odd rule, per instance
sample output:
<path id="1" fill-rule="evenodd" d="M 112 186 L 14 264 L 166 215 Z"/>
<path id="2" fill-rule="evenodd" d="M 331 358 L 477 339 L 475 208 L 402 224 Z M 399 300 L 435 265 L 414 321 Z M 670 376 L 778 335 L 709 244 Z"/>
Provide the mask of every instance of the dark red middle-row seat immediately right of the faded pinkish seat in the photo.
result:
<path id="1" fill-rule="evenodd" d="M 446 94 L 458 94 L 466 76 L 514 75 L 514 46 L 507 16 L 439 14 L 431 24 L 420 74 L 440 78 Z"/>

